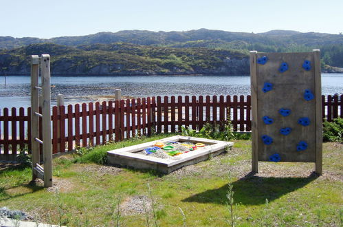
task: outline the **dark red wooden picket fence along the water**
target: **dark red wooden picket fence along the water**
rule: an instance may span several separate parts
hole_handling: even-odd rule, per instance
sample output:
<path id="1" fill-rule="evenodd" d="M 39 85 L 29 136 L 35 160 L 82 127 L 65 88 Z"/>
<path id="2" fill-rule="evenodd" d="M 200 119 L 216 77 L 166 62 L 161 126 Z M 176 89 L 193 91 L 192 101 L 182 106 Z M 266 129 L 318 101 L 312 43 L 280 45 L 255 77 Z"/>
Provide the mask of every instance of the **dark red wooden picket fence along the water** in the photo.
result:
<path id="1" fill-rule="evenodd" d="M 343 118 L 342 100 L 322 96 L 323 119 Z M 153 132 L 173 133 L 181 126 L 199 130 L 206 123 L 222 130 L 229 120 L 235 131 L 251 131 L 250 96 L 157 96 L 52 107 L 52 149 L 60 153 Z M 30 107 L 19 113 L 0 109 L 0 160 L 30 150 L 30 141 Z"/>

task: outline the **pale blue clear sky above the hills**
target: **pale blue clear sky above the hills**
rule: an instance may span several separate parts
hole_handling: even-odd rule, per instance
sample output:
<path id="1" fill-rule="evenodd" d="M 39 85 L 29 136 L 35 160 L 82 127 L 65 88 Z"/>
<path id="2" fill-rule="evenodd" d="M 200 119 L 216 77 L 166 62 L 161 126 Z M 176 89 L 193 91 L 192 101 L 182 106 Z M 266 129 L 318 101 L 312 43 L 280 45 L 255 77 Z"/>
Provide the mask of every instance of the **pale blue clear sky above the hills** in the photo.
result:
<path id="1" fill-rule="evenodd" d="M 120 30 L 343 32 L 343 0 L 0 0 L 0 36 Z"/>

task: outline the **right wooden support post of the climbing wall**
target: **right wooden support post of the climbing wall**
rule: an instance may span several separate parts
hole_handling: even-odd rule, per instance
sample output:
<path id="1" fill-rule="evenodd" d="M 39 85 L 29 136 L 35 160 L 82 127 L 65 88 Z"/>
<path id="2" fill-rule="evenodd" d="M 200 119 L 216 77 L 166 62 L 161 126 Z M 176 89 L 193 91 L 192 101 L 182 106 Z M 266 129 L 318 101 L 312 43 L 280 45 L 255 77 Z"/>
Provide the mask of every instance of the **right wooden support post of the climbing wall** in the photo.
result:
<path id="1" fill-rule="evenodd" d="M 313 50 L 314 54 L 314 77 L 316 87 L 316 167 L 318 175 L 322 175 L 322 81 L 320 75 L 320 50 Z"/>

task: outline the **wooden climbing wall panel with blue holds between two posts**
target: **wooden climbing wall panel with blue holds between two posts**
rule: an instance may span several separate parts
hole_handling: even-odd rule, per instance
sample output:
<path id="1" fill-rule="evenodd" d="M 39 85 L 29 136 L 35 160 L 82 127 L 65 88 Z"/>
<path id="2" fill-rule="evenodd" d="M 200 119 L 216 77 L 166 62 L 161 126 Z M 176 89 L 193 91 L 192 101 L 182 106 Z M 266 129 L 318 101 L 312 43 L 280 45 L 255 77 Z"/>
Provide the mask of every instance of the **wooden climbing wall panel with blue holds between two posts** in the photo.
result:
<path id="1" fill-rule="evenodd" d="M 321 168 L 319 53 L 251 52 L 253 171 L 258 161 Z"/>

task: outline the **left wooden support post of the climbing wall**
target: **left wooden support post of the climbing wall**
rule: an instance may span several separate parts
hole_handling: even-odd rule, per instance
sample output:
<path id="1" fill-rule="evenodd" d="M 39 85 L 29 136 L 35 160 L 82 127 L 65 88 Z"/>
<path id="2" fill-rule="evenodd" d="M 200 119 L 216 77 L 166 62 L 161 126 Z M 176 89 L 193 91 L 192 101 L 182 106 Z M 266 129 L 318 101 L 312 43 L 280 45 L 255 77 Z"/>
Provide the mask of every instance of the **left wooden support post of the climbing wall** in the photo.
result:
<path id="1" fill-rule="evenodd" d="M 258 173 L 258 124 L 257 124 L 257 63 L 256 51 L 250 52 L 250 82 L 252 96 L 252 173 Z"/>

